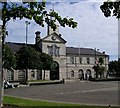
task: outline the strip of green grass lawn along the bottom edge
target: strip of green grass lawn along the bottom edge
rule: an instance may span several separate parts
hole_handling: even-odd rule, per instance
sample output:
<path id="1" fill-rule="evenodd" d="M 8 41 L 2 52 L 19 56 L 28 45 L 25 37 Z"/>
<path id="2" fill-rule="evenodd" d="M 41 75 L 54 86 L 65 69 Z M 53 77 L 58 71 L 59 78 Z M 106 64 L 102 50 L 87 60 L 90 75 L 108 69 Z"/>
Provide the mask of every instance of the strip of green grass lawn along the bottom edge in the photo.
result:
<path id="1" fill-rule="evenodd" d="M 66 104 L 66 103 L 56 103 L 38 100 L 28 100 L 10 96 L 4 96 L 4 105 L 15 105 L 19 108 L 108 108 L 108 106 L 87 106 L 79 104 Z M 8 108 L 8 107 L 7 107 Z M 16 108 L 16 107 L 12 107 Z M 17 107 L 18 108 L 18 107 Z M 110 107 L 110 108 L 120 108 L 120 107 Z"/>

